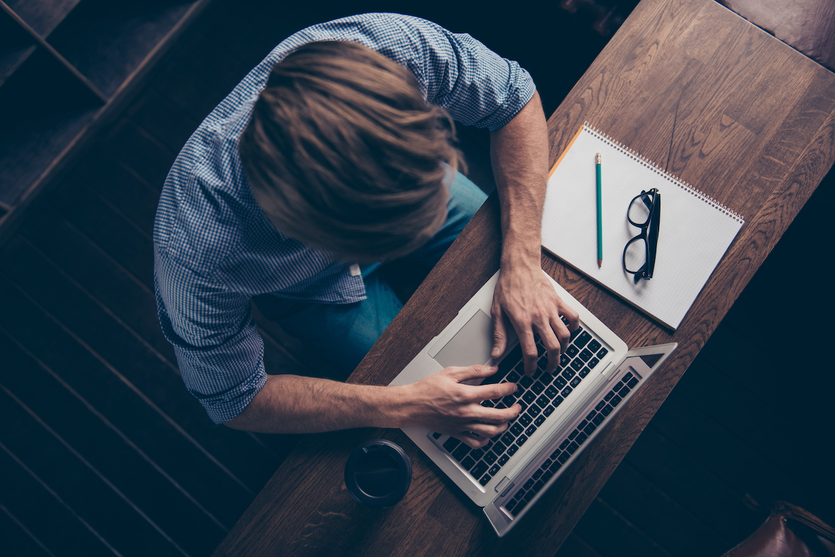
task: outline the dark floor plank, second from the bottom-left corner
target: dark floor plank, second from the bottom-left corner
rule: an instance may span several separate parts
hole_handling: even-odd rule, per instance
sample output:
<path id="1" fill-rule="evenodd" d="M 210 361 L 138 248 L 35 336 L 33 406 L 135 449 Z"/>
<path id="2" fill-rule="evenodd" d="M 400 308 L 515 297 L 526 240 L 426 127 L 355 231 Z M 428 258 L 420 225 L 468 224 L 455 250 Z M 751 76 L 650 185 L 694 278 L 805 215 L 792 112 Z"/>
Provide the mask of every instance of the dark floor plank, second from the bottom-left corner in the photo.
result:
<path id="1" fill-rule="evenodd" d="M 113 557 L 113 551 L 95 530 L 79 519 L 2 444 L 0 474 L 3 474 L 0 505 L 52 554 L 63 554 L 71 547 L 89 557 Z"/>

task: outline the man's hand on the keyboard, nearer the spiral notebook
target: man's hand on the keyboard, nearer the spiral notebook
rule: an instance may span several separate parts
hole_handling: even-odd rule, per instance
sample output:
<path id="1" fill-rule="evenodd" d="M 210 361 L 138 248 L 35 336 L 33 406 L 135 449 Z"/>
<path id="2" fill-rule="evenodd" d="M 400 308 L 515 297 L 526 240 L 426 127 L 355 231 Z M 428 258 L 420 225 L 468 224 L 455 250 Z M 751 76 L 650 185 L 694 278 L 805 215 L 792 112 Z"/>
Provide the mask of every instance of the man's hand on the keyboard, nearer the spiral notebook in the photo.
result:
<path id="1" fill-rule="evenodd" d="M 503 268 L 493 292 L 493 359 L 504 354 L 508 345 L 508 326 L 519 336 L 524 354 L 524 371 L 533 375 L 538 354 L 534 333 L 539 334 L 548 350 L 545 371 L 553 374 L 559 364 L 559 354 L 569 347 L 570 331 L 579 326 L 579 315 L 565 304 L 554 291 L 549 279 L 537 264 L 534 268 Z M 566 327 L 560 315 L 568 319 Z"/>

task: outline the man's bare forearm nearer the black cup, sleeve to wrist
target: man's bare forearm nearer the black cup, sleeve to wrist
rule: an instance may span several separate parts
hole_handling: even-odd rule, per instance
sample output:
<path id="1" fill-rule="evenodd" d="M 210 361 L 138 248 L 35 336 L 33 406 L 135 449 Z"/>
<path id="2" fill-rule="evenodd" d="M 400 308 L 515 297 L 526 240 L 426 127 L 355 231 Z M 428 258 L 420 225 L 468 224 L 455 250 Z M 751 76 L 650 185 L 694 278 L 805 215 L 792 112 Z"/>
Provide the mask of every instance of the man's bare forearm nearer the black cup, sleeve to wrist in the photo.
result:
<path id="1" fill-rule="evenodd" d="M 226 422 L 259 433 L 304 434 L 362 427 L 401 427 L 406 393 L 397 387 L 268 375 L 243 412 Z"/>

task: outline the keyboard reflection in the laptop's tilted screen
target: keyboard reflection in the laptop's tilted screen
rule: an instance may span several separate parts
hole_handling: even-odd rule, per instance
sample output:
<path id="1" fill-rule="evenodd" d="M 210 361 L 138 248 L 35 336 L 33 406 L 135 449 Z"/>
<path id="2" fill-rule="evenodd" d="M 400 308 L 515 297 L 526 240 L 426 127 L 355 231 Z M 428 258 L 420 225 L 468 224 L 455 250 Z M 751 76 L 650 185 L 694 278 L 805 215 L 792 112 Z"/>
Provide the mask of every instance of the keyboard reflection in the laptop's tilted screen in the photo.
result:
<path id="1" fill-rule="evenodd" d="M 577 452 L 579 446 L 584 444 L 586 439 L 589 439 L 589 436 L 595 429 L 600 427 L 600 424 L 620 404 L 620 401 L 627 394 L 630 394 L 632 389 L 635 389 L 637 384 L 638 378 L 632 372 L 626 372 L 620 381 L 595 405 L 595 408 L 591 409 L 583 421 L 577 424 L 574 431 L 539 466 L 539 469 L 534 472 L 528 481 L 504 504 L 504 508 L 508 509 L 514 515 L 522 512 L 522 509 L 528 506 L 530 500 L 534 499 L 534 496 L 539 493 L 539 490 L 545 487 L 545 484 L 554 476 L 554 473 L 571 458 L 572 454 Z"/>

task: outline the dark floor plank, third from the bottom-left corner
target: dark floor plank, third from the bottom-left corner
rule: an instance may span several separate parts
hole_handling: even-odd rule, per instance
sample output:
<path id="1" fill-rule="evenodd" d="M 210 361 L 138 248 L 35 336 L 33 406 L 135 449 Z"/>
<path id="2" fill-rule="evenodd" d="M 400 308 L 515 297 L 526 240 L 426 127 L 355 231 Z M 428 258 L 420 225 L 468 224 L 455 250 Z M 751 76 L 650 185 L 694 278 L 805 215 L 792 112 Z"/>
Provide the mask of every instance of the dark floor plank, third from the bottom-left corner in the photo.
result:
<path id="1" fill-rule="evenodd" d="M 181 555 L 113 486 L 0 387 L 0 443 L 119 554 Z M 55 465 L 60 463 L 60 465 Z"/>

